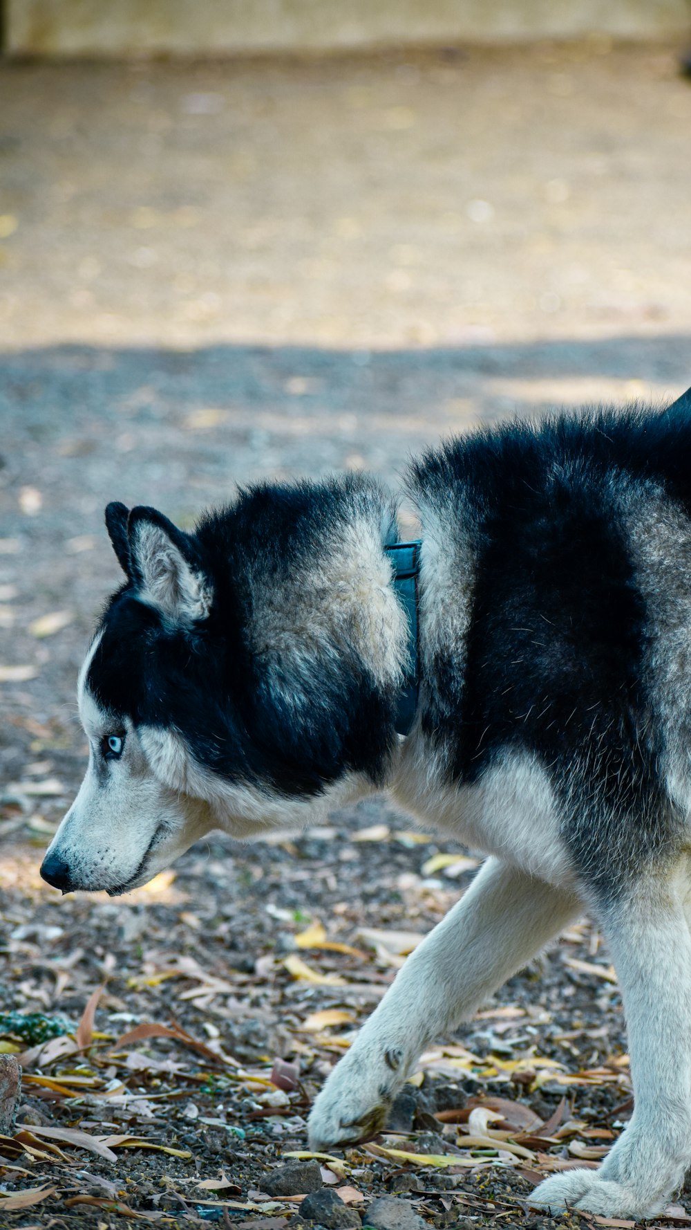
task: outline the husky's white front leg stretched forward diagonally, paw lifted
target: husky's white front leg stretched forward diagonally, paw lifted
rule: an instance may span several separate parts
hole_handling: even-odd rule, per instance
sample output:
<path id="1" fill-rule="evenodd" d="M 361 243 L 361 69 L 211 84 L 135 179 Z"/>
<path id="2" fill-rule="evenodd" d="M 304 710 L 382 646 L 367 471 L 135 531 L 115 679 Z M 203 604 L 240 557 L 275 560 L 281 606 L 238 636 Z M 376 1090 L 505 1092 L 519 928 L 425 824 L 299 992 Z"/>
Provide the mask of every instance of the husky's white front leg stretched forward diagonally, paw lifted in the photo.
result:
<path id="1" fill-rule="evenodd" d="M 578 913 L 566 889 L 489 859 L 465 897 L 408 957 L 318 1095 L 312 1148 L 384 1127 L 421 1054 L 454 1028 Z"/>

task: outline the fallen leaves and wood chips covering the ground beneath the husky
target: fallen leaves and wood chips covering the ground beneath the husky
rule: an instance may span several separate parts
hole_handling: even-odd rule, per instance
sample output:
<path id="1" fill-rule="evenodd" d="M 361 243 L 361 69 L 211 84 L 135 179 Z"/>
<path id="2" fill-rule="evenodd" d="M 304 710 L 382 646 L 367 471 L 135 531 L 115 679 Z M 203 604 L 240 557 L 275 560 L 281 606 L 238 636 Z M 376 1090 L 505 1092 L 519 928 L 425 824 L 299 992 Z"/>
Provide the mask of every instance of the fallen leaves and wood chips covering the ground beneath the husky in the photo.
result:
<path id="1" fill-rule="evenodd" d="M 59 803 L 45 798 L 50 828 Z M 360 1212 L 393 1194 L 429 1225 L 573 1226 L 532 1213 L 532 1186 L 599 1165 L 631 1112 L 618 991 L 586 920 L 421 1057 L 382 1134 L 306 1148 L 327 1073 L 477 862 L 403 824 L 375 801 L 325 835 L 213 839 L 117 904 L 57 898 L 37 876 L 47 835 L 14 828 L 0 1048 L 17 1054 L 23 1093 L 0 1138 L 0 1220 L 36 1207 L 69 1228 L 298 1228 L 304 1193 L 267 1197 L 262 1180 L 315 1160 Z"/>

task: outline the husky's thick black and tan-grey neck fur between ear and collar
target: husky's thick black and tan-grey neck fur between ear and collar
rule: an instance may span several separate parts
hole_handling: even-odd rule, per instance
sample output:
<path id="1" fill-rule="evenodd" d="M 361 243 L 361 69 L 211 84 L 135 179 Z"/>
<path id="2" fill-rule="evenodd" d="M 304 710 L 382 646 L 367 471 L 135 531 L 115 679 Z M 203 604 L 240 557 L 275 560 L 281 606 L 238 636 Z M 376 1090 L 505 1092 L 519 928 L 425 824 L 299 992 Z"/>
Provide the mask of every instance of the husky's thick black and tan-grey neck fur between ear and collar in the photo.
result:
<path id="1" fill-rule="evenodd" d="M 396 587 L 412 581 L 414 597 L 417 547 L 396 569 L 396 510 L 371 480 L 348 476 L 300 496 L 300 518 L 277 509 L 270 538 L 259 539 L 257 515 L 250 518 L 252 497 L 247 519 L 241 508 L 235 522 L 231 573 L 252 663 L 250 740 L 278 788 L 318 790 L 344 772 L 381 786 L 397 711 L 406 729 L 414 712 L 412 619 Z"/>

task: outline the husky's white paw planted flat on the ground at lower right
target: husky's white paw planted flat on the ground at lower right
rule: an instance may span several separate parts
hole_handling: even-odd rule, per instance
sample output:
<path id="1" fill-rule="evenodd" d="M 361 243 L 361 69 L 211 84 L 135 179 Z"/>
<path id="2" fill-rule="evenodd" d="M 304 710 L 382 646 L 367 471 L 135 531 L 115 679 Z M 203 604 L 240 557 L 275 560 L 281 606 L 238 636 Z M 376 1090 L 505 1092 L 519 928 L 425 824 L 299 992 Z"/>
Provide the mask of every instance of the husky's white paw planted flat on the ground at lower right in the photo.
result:
<path id="1" fill-rule="evenodd" d="M 535 1209 L 548 1209 L 551 1213 L 563 1209 L 580 1209 L 583 1213 L 596 1213 L 601 1218 L 633 1218 L 636 1221 L 654 1216 L 665 1202 L 652 1193 L 643 1199 L 622 1183 L 610 1178 L 600 1178 L 596 1170 L 566 1170 L 552 1175 L 540 1183 L 527 1199 Z"/>

